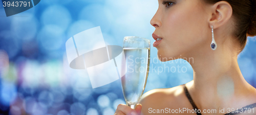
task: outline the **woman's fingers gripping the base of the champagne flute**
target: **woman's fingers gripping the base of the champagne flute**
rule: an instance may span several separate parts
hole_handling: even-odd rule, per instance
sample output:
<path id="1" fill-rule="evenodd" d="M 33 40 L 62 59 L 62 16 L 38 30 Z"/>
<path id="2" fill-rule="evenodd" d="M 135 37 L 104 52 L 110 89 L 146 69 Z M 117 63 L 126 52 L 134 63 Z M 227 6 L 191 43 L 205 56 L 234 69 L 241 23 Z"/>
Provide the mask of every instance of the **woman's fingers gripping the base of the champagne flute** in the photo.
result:
<path id="1" fill-rule="evenodd" d="M 114 115 L 140 115 L 141 108 L 141 104 L 137 104 L 135 109 L 125 104 L 119 104 Z"/>

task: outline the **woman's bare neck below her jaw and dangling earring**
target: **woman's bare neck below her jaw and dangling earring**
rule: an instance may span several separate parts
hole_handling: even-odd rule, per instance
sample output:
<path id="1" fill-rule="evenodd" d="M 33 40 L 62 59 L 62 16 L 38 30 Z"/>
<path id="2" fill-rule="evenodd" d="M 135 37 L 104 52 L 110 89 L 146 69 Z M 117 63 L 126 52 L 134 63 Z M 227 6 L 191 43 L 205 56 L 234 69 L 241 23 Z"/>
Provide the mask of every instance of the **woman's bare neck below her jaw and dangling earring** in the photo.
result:
<path id="1" fill-rule="evenodd" d="M 220 44 L 214 51 L 206 50 L 202 49 L 203 54 L 193 56 L 194 62 L 190 65 L 194 70 L 194 80 L 187 83 L 188 91 L 199 109 L 233 107 L 231 105 L 241 101 L 236 102 L 236 99 L 255 91 L 244 79 L 237 54 L 230 46 Z"/>

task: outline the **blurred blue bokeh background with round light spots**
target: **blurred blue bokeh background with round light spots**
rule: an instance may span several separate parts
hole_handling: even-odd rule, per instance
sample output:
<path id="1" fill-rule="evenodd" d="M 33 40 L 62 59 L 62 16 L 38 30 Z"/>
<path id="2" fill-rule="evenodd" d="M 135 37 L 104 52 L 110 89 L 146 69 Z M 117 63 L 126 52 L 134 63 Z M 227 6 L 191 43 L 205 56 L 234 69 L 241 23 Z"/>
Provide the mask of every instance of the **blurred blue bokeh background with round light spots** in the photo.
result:
<path id="1" fill-rule="evenodd" d="M 120 81 L 92 89 L 87 70 L 69 67 L 65 43 L 79 32 L 100 26 L 106 45 L 122 46 L 124 36 L 151 40 L 156 0 L 42 0 L 6 17 L 0 3 L 0 111 L 3 114 L 114 114 L 125 103 Z M 256 86 L 256 41 L 248 38 L 238 63 Z M 193 80 L 184 60 L 162 63 L 151 48 L 151 69 L 144 92 Z M 168 66 L 177 71 L 152 71 Z M 178 71 L 179 67 L 186 68 Z"/>

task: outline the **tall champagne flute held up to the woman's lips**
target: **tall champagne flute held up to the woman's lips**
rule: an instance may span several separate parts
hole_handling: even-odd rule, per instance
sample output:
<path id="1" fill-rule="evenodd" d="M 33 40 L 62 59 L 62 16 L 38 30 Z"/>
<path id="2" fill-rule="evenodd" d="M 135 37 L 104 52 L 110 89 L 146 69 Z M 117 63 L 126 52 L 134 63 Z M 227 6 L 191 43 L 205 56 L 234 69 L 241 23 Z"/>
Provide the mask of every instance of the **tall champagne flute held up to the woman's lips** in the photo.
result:
<path id="1" fill-rule="evenodd" d="M 120 78 L 123 96 L 126 105 L 135 109 L 146 87 L 150 69 L 150 40 L 134 36 L 124 37 L 123 51 L 126 59 L 122 65 L 126 73 Z"/>

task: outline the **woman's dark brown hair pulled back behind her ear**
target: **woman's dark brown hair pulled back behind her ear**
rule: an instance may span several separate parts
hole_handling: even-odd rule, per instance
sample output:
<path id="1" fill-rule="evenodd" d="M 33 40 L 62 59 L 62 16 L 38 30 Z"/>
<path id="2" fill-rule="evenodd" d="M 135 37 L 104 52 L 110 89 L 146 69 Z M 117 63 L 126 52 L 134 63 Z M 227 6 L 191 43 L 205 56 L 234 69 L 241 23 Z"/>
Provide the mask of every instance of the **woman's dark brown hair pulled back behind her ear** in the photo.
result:
<path id="1" fill-rule="evenodd" d="M 232 7 L 232 16 L 236 23 L 233 35 L 241 44 L 240 52 L 247 41 L 246 34 L 256 36 L 256 0 L 203 0 L 207 4 L 215 4 L 220 1 L 228 2 Z"/>

